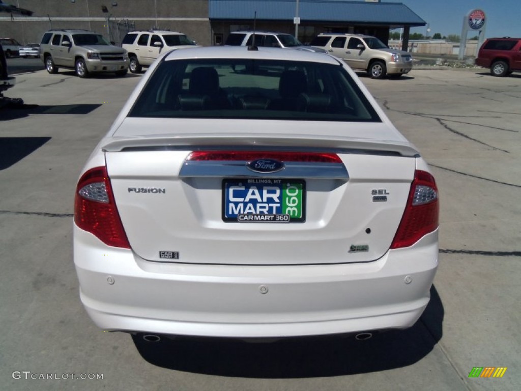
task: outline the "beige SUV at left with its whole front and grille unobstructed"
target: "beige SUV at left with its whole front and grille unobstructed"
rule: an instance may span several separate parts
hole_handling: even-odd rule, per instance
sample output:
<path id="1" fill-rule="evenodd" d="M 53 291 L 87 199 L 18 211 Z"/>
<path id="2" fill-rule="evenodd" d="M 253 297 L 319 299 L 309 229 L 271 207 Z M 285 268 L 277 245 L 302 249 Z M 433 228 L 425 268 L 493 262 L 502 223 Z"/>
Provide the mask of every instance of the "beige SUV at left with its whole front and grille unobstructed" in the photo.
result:
<path id="1" fill-rule="evenodd" d="M 40 44 L 40 57 L 49 74 L 56 74 L 58 68 L 70 68 L 81 78 L 94 72 L 125 76 L 129 67 L 125 49 L 88 30 L 47 31 Z"/>

